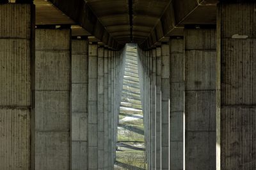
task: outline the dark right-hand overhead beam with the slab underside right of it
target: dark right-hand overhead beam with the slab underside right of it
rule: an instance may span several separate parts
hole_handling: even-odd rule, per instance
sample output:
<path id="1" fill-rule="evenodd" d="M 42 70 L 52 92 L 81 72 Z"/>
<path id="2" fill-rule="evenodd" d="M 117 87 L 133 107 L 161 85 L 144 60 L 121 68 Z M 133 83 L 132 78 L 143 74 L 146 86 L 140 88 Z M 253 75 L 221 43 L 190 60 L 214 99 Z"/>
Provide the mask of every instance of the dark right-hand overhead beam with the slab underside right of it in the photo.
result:
<path id="1" fill-rule="evenodd" d="M 141 48 L 150 49 L 166 36 L 181 36 L 186 24 L 216 24 L 217 3 L 218 0 L 173 0 Z"/>

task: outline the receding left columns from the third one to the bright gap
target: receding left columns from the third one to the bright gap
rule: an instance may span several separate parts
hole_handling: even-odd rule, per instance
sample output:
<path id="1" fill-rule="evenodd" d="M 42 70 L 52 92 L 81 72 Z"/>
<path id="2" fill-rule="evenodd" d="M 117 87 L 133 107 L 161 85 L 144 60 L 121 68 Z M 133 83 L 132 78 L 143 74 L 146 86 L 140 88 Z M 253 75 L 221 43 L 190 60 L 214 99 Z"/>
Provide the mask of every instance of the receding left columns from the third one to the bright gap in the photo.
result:
<path id="1" fill-rule="evenodd" d="M 82 132 L 86 136 L 84 141 L 77 141 L 72 136 L 72 169 L 113 169 L 124 53 L 87 40 L 72 40 L 72 45 L 72 52 L 77 53 L 77 56 L 72 55 L 72 59 L 76 57 L 74 64 L 72 60 L 72 75 L 78 71 L 79 76 L 74 75 L 78 81 L 84 77 L 87 82 L 84 93 L 82 89 L 72 90 L 72 104 L 87 106 L 84 111 L 76 111 L 82 113 L 79 119 L 72 112 L 72 134 L 77 136 L 77 132 Z M 78 84 L 74 82 L 74 86 Z"/>

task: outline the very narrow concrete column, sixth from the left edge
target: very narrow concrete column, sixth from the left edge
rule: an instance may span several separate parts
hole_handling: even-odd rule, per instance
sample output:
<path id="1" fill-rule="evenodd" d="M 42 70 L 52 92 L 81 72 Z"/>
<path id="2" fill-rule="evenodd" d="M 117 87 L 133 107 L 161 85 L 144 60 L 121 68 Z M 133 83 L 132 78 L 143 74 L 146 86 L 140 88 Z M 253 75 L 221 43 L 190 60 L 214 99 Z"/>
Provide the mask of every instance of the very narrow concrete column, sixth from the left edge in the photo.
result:
<path id="1" fill-rule="evenodd" d="M 109 167 L 108 53 L 104 50 L 104 169 Z"/>

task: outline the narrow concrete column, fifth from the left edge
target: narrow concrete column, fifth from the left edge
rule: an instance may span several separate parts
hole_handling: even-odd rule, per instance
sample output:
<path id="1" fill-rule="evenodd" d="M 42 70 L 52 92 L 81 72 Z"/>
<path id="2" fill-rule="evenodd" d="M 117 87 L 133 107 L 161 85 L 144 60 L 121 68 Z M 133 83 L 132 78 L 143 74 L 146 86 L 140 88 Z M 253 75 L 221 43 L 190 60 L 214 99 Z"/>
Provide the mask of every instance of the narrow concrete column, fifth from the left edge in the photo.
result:
<path id="1" fill-rule="evenodd" d="M 98 170 L 104 169 L 104 47 L 98 48 Z"/>

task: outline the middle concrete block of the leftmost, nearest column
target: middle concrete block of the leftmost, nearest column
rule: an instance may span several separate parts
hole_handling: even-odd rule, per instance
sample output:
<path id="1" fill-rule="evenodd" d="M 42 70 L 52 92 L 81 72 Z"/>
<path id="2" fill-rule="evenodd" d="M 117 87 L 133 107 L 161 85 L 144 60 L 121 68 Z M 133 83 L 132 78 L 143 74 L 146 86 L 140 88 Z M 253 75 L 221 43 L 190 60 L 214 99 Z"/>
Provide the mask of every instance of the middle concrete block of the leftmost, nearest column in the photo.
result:
<path id="1" fill-rule="evenodd" d="M 31 90 L 29 39 L 0 38 L 0 105 L 29 106 Z"/>

